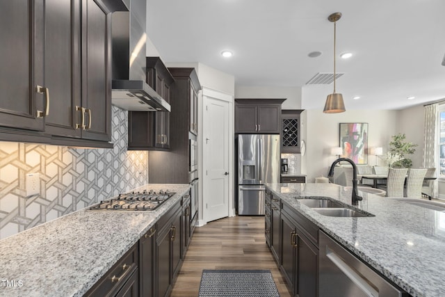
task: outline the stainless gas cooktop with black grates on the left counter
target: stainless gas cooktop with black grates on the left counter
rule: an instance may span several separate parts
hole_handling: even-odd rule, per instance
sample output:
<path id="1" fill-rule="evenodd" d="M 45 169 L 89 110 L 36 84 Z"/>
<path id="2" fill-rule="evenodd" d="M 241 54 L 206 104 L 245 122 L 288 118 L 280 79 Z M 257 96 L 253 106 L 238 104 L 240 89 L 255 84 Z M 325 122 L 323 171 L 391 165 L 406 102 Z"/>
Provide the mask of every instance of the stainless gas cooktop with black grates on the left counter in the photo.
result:
<path id="1" fill-rule="evenodd" d="M 99 204 L 90 207 L 90 210 L 99 211 L 149 211 L 159 207 L 165 200 L 175 195 L 166 191 L 155 192 L 153 190 L 119 194 L 117 198 L 103 200 Z"/>

